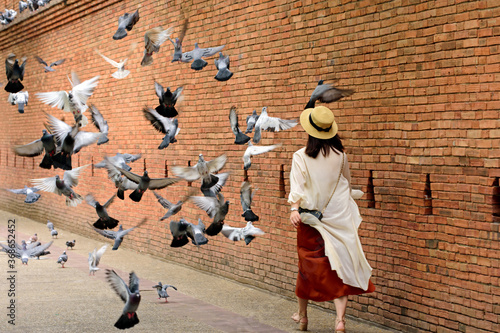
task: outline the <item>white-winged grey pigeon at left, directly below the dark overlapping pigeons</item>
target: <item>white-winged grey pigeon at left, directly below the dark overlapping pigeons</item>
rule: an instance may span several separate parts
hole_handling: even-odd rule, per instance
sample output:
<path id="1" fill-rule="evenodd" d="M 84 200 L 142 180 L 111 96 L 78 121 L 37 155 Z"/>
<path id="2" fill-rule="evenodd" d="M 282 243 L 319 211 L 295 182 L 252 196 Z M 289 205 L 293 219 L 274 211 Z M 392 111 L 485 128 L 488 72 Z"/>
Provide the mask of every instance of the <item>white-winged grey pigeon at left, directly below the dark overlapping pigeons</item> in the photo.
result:
<path id="1" fill-rule="evenodd" d="M 45 192 L 52 192 L 66 197 L 66 205 L 76 207 L 83 201 L 83 197 L 73 191 L 73 187 L 78 185 L 78 177 L 80 173 L 88 167 L 89 164 L 79 168 L 64 171 L 64 178 L 59 178 L 59 175 L 48 178 L 32 179 L 31 182 L 37 188 Z"/>

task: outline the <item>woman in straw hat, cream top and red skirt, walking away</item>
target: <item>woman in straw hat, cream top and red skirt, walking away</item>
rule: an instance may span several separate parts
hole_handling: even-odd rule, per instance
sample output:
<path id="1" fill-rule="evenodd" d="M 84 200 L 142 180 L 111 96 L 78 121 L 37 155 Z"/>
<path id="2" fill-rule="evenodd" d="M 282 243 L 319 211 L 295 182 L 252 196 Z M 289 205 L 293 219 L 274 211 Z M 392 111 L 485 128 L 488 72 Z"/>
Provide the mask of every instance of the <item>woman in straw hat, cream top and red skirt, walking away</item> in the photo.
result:
<path id="1" fill-rule="evenodd" d="M 348 295 L 375 290 L 358 237 L 361 216 L 351 197 L 349 164 L 332 111 L 306 109 L 300 124 L 309 139 L 294 153 L 290 172 L 290 221 L 297 229 L 299 254 L 299 311 L 292 319 L 306 331 L 308 300 L 333 299 L 335 332 L 345 332 Z"/>

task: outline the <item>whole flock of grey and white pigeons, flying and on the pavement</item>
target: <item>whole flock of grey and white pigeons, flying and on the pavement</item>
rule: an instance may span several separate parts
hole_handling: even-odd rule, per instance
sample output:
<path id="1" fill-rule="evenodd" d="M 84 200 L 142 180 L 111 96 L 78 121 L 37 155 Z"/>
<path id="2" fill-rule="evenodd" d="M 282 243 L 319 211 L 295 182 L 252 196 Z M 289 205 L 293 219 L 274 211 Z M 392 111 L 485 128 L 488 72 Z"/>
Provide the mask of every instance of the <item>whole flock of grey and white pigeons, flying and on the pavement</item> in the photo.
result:
<path id="1" fill-rule="evenodd" d="M 35 7 L 35 3 L 38 6 L 41 5 L 40 1 L 28 0 L 26 3 L 21 1 L 20 10 L 21 3 L 23 3 L 23 8 L 30 9 Z M 115 40 L 125 38 L 138 21 L 138 10 L 134 13 L 125 13 L 120 16 L 118 19 L 118 29 L 112 38 Z M 158 53 L 160 51 L 160 46 L 168 39 L 174 46 L 172 62 L 180 61 L 191 63 L 191 68 L 198 71 L 207 66 L 207 62 L 203 58 L 219 53 L 219 58 L 215 59 L 215 66 L 218 70 L 215 79 L 218 81 L 229 80 L 233 73 L 229 70 L 229 57 L 224 56 L 221 52 L 224 45 L 213 48 L 200 48 L 198 44 L 195 43 L 194 50 L 189 52 L 182 51 L 182 42 L 186 35 L 187 28 L 188 20 L 186 19 L 175 40 L 170 38 L 173 32 L 172 28 L 163 29 L 162 27 L 156 27 L 147 31 L 144 36 L 145 46 L 141 65 L 147 66 L 151 64 L 153 62 L 153 54 Z M 136 46 L 135 44 L 130 46 L 130 54 L 135 50 Z M 130 74 L 130 71 L 125 69 L 128 57 L 120 62 L 115 62 L 101 54 L 98 50 L 96 50 L 96 53 L 117 68 L 117 71 L 112 74 L 112 77 L 115 79 L 124 79 Z M 35 59 L 43 66 L 46 73 L 55 71 L 54 67 L 62 65 L 65 61 L 64 59 L 60 59 L 49 65 L 49 63 L 45 62 L 40 57 L 35 57 Z M 8 79 L 5 90 L 10 93 L 9 102 L 17 104 L 20 113 L 24 112 L 29 97 L 27 91 L 22 91 L 24 86 L 21 82 L 24 77 L 26 61 L 26 58 L 19 61 L 14 54 L 9 54 L 5 61 Z M 107 171 L 109 179 L 117 189 L 116 194 L 113 194 L 104 204 L 100 204 L 92 194 L 87 194 L 83 197 L 76 193 L 74 188 L 78 185 L 79 175 L 84 172 L 89 165 L 73 168 L 72 156 L 86 146 L 94 143 L 101 145 L 109 141 L 109 126 L 107 121 L 95 105 L 87 103 L 87 100 L 92 96 L 98 85 L 98 79 L 99 76 L 95 76 L 82 82 L 78 75 L 72 72 L 71 79 L 69 79 L 71 85 L 70 90 L 40 92 L 36 94 L 42 102 L 52 107 L 62 109 L 65 112 L 71 112 L 73 114 L 74 123 L 67 124 L 52 115 L 46 114 L 47 123 L 45 124 L 45 129 L 42 130 L 41 138 L 28 144 L 15 146 L 13 150 L 17 155 L 25 157 L 35 157 L 43 154 L 43 159 L 39 166 L 44 169 L 51 169 L 52 167 L 54 169 L 62 169 L 64 170 L 64 175 L 62 177 L 55 175 L 47 178 L 33 179 L 32 184 L 34 187 L 25 186 L 24 189 L 9 189 L 9 191 L 25 195 L 25 202 L 28 204 L 35 203 L 40 198 L 40 194 L 37 193 L 40 190 L 65 196 L 66 205 L 71 207 L 75 207 L 85 200 L 87 204 L 95 208 L 98 216 L 98 219 L 91 224 L 91 227 L 100 235 L 114 241 L 112 250 L 118 250 L 124 237 L 128 233 L 147 222 L 147 219 L 143 219 L 137 226 L 123 229 L 123 226 L 119 225 L 120 222 L 108 214 L 108 209 L 116 197 L 125 200 L 126 191 L 131 191 L 128 196 L 132 201 L 140 202 L 144 193 L 147 190 L 151 190 L 159 204 L 166 210 L 165 215 L 161 217 L 160 220 L 165 220 L 178 214 L 182 210 L 183 204 L 188 200 L 207 213 L 211 219 L 211 224 L 207 228 L 201 219 L 198 220 L 197 224 L 188 222 L 184 218 L 180 218 L 178 221 L 172 220 L 170 222 L 172 247 L 184 246 L 189 243 L 190 240 L 196 246 L 201 246 L 208 243 L 207 235 L 216 236 L 219 233 L 222 233 L 232 241 L 244 240 L 248 245 L 257 235 L 264 234 L 261 229 L 253 225 L 254 222 L 259 220 L 259 217 L 251 209 L 255 190 L 248 179 L 242 183 L 240 189 L 240 201 L 242 206 L 241 215 L 247 222 L 246 226 L 243 228 L 235 228 L 224 224 L 226 214 L 229 210 L 229 201 L 224 199 L 222 188 L 230 173 L 219 173 L 219 171 L 225 166 L 227 161 L 226 155 L 220 155 L 213 160 L 206 161 L 203 154 L 199 154 L 196 165 L 189 167 L 175 166 L 173 168 L 173 173 L 176 177 L 150 178 L 147 170 L 145 170 L 141 176 L 131 172 L 132 168 L 128 165 L 141 158 L 140 154 L 132 155 L 117 153 L 115 156 L 104 157 L 103 161 L 94 165 L 96 168 L 104 168 Z M 170 88 L 167 87 L 165 90 L 162 85 L 155 82 L 154 89 L 159 99 L 159 105 L 155 109 L 145 107 L 142 111 L 144 117 L 151 125 L 157 131 L 164 134 L 158 149 L 165 149 L 170 144 L 177 142 L 176 136 L 180 128 L 179 121 L 176 118 L 178 111 L 175 105 L 176 102 L 182 100 L 183 87 L 178 87 L 174 91 L 171 91 Z M 350 96 L 352 93 L 352 90 L 337 89 L 329 84 L 323 84 L 323 81 L 320 81 L 313 91 L 306 107 L 314 107 L 316 101 L 330 103 L 344 96 Z M 96 126 L 98 132 L 82 130 L 82 128 L 88 124 L 88 118 L 85 114 L 87 110 L 90 110 L 89 113 L 92 123 Z M 239 127 L 237 110 L 233 106 L 229 111 L 229 123 L 235 135 L 234 143 L 238 145 L 248 145 L 243 155 L 243 168 L 244 170 L 248 170 L 251 167 L 251 157 L 253 155 L 263 154 L 280 147 L 280 144 L 269 146 L 254 145 L 254 143 L 257 144 L 260 142 L 263 131 L 278 132 L 288 130 L 296 126 L 298 121 L 271 117 L 268 115 L 267 108 L 264 107 L 260 115 L 254 110 L 251 115 L 246 117 L 247 126 L 245 133 L 243 133 Z M 247 134 L 253 131 L 255 131 L 255 134 L 251 140 Z M 181 198 L 177 203 L 168 201 L 154 191 L 166 188 L 183 180 L 195 182 L 199 179 L 201 180 L 200 190 L 202 195 L 194 195 L 195 193 L 191 191 L 189 195 Z M 117 226 L 118 229 L 116 231 L 112 230 Z M 52 237 L 57 237 L 57 231 L 54 229 L 51 222 L 48 222 L 47 227 Z M 76 241 L 69 241 L 67 242 L 67 246 L 72 248 L 75 242 Z M 28 243 L 23 241 L 21 245 L 16 245 L 14 252 L 17 257 L 21 258 L 23 263 L 27 264 L 28 258 L 47 254 L 47 249 L 51 244 L 52 241 L 42 245 L 37 239 L 33 239 Z M 12 249 L 8 247 L 3 245 L 2 247 L 5 252 L 12 252 Z M 99 250 L 96 248 L 93 252 L 89 253 L 89 274 L 95 275 L 95 272 L 99 269 L 97 266 L 106 248 L 107 245 L 104 245 Z M 68 256 L 65 251 L 59 257 L 58 263 L 64 267 L 64 263 L 67 260 Z M 138 277 L 134 272 L 130 273 L 128 285 L 112 270 L 107 270 L 106 277 L 112 288 L 125 302 L 122 316 L 115 323 L 115 327 L 120 329 L 133 327 L 139 322 L 136 314 L 141 299 Z M 173 286 L 162 285 L 160 282 L 153 288 L 158 290 L 159 298 L 166 299 L 168 297 L 166 288 L 168 287 Z M 175 289 L 175 287 L 173 288 Z"/>

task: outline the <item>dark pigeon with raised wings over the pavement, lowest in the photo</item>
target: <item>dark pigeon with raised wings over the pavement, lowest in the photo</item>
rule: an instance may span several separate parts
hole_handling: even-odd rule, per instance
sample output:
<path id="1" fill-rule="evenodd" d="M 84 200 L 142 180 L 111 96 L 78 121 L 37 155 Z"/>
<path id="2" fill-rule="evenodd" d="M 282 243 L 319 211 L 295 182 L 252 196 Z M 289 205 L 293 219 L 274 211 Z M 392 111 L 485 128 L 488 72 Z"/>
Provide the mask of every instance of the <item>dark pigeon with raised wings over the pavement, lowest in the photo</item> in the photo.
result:
<path id="1" fill-rule="evenodd" d="M 134 327 L 139 323 L 139 317 L 137 317 L 136 313 L 141 302 L 139 278 L 134 272 L 131 272 L 127 286 L 125 281 L 114 270 L 106 269 L 106 280 L 125 303 L 122 315 L 115 323 L 115 327 L 121 330 Z"/>

